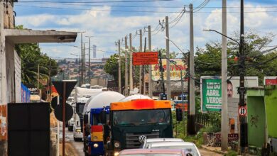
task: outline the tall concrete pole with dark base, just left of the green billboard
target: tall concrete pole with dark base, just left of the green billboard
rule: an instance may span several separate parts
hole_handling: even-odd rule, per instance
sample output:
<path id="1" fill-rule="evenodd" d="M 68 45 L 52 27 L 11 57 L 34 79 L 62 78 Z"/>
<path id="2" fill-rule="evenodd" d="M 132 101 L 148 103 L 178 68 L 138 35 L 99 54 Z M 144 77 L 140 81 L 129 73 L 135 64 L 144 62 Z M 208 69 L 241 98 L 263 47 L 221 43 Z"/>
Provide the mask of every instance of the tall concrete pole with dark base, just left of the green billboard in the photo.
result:
<path id="1" fill-rule="evenodd" d="M 195 60 L 194 60 L 194 45 L 193 45 L 193 6 L 190 4 L 190 91 L 189 91 L 189 106 L 187 130 L 189 135 L 195 135 Z"/>

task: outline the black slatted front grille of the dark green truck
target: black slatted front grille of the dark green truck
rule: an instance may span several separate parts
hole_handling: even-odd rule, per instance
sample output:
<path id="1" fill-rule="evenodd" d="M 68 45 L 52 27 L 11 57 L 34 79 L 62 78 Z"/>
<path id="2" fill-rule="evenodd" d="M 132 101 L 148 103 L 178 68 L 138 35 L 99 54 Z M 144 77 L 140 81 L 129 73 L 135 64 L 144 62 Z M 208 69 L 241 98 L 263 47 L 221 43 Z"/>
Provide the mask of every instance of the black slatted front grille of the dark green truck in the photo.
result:
<path id="1" fill-rule="evenodd" d="M 141 135 L 146 136 L 146 138 L 159 138 L 159 133 L 126 133 L 126 148 L 139 148 L 141 143 L 139 142 L 139 137 Z"/>

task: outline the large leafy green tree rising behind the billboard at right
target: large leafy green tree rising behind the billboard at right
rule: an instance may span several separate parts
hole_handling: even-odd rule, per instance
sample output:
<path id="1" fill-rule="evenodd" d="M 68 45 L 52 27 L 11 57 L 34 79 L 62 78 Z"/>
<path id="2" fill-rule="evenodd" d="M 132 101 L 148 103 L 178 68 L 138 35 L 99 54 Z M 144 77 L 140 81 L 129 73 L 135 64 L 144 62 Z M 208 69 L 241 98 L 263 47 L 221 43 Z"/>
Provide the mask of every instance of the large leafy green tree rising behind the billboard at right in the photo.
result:
<path id="1" fill-rule="evenodd" d="M 263 54 L 263 50 L 271 43 L 273 35 L 260 36 L 254 33 L 246 33 L 244 38 L 246 76 L 258 76 L 259 85 L 262 85 L 264 76 L 276 74 L 277 60 L 270 59 L 276 57 L 277 52 L 271 52 L 267 55 Z M 237 40 L 239 40 L 239 38 L 237 38 Z M 195 77 L 197 79 L 205 75 L 221 75 L 221 50 L 221 43 L 216 42 L 207 43 L 205 48 L 196 48 Z M 239 45 L 234 41 L 228 41 L 228 75 L 231 77 L 239 76 L 239 61 L 235 60 L 235 58 L 238 57 L 238 52 Z M 199 85 L 200 81 L 197 82 L 197 85 Z"/>

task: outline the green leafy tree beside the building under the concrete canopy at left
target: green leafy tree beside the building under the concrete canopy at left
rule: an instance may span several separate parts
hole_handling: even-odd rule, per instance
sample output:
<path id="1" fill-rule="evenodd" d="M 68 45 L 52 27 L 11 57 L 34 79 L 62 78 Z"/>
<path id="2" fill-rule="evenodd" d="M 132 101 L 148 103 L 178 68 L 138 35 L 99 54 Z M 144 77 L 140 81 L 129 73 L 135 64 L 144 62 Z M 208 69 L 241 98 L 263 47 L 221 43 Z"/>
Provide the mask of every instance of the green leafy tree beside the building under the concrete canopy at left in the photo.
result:
<path id="1" fill-rule="evenodd" d="M 23 29 L 23 26 L 17 26 Z M 40 67 L 40 79 L 53 77 L 58 73 L 58 65 L 55 60 L 40 52 L 37 44 L 17 44 L 16 52 L 21 57 L 21 81 L 23 84 L 37 84 L 38 65 Z M 51 65 L 51 66 L 50 66 Z"/>

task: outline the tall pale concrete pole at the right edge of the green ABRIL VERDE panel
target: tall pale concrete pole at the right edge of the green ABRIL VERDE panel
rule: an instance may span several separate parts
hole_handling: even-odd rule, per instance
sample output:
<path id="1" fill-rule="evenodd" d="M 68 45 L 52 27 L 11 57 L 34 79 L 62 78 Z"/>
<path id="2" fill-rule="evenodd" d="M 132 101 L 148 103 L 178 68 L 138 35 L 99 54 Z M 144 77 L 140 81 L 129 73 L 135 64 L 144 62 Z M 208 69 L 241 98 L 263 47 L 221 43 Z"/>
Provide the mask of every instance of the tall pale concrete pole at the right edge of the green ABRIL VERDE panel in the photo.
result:
<path id="1" fill-rule="evenodd" d="M 222 0 L 222 34 L 227 35 L 227 2 Z M 227 38 L 222 35 L 222 119 L 221 149 L 228 150 L 228 100 L 227 100 Z"/>

